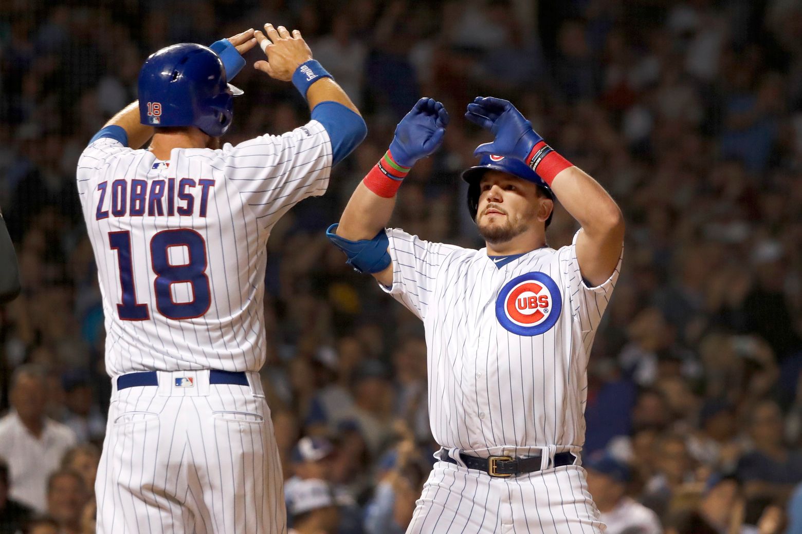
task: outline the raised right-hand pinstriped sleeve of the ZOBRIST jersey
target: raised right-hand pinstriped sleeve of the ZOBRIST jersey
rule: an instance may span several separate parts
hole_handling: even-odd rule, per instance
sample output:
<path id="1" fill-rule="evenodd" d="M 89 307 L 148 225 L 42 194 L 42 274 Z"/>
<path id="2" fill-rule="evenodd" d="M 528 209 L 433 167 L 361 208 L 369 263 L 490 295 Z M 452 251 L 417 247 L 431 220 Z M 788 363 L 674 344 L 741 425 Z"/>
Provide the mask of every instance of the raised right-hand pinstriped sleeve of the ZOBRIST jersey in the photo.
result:
<path id="1" fill-rule="evenodd" d="M 270 226 L 296 203 L 329 186 L 331 141 L 316 120 L 284 135 L 261 135 L 223 148 L 225 177 L 257 219 Z"/>

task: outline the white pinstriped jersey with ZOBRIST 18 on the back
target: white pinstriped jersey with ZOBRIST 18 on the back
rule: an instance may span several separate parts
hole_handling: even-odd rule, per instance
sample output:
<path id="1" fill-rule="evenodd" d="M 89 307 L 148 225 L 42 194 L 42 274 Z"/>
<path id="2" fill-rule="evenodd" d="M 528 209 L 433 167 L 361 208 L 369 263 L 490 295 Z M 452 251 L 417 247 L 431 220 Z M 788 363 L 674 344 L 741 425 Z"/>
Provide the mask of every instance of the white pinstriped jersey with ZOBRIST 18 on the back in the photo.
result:
<path id="1" fill-rule="evenodd" d="M 329 135 L 313 120 L 169 162 L 115 139 L 91 143 L 78 188 L 105 315 L 106 368 L 258 371 L 265 359 L 265 243 L 329 182 Z"/>

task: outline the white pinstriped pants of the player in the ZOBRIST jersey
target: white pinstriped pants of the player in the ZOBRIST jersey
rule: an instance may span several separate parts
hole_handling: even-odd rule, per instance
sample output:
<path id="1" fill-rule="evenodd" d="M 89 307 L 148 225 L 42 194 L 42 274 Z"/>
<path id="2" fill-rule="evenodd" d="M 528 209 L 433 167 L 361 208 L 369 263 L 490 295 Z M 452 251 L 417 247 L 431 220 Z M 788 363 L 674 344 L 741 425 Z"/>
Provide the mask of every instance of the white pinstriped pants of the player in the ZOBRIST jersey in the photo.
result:
<path id="1" fill-rule="evenodd" d="M 100 534 L 286 532 L 264 396 L 195 380 L 205 394 L 131 387 L 113 397 L 95 481 Z"/>

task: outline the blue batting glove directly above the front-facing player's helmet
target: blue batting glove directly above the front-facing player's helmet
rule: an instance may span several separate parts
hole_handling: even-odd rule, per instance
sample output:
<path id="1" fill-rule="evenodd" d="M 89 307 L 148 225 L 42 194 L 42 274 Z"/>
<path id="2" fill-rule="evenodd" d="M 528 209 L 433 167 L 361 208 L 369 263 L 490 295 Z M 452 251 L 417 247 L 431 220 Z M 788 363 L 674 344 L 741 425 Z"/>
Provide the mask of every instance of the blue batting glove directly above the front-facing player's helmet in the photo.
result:
<path id="1" fill-rule="evenodd" d="M 501 98 L 477 96 L 468 104 L 465 118 L 496 136 L 492 143 L 476 147 L 473 152 L 476 156 L 495 154 L 525 162 L 532 148 L 543 140 L 532 129 L 532 122 L 526 120 L 511 102 Z"/>

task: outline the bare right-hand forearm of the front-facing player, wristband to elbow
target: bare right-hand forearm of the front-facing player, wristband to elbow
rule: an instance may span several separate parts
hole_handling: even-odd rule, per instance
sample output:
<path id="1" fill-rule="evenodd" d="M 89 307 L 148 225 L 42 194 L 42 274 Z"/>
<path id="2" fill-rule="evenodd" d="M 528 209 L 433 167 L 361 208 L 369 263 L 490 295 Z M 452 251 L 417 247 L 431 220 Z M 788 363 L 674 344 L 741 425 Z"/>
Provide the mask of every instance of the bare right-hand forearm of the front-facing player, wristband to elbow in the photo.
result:
<path id="1" fill-rule="evenodd" d="M 554 177 L 552 191 L 589 237 L 615 235 L 623 240 L 624 218 L 614 199 L 596 180 L 578 167 Z"/>

